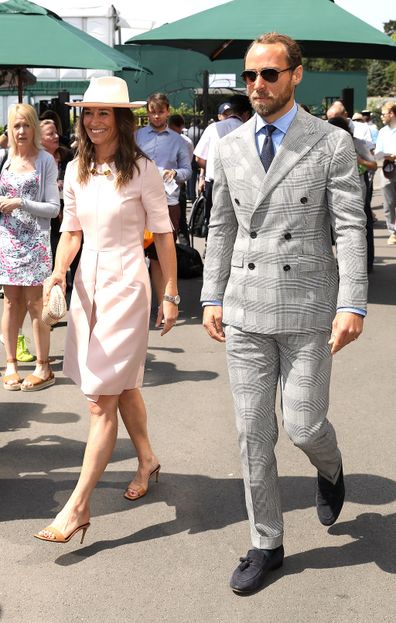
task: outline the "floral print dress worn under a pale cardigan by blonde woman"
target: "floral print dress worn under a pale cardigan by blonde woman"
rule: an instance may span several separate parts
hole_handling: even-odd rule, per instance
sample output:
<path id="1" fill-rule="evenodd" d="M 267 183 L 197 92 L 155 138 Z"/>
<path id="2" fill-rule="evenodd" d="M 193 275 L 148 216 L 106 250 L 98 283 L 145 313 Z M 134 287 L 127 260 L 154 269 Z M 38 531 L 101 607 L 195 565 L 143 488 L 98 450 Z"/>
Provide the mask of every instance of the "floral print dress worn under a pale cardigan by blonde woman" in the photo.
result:
<path id="1" fill-rule="evenodd" d="M 3 169 L 0 195 L 35 200 L 39 188 L 37 171 L 13 173 Z M 0 214 L 0 284 L 41 285 L 52 270 L 49 231 L 42 231 L 36 216 L 22 208 Z"/>

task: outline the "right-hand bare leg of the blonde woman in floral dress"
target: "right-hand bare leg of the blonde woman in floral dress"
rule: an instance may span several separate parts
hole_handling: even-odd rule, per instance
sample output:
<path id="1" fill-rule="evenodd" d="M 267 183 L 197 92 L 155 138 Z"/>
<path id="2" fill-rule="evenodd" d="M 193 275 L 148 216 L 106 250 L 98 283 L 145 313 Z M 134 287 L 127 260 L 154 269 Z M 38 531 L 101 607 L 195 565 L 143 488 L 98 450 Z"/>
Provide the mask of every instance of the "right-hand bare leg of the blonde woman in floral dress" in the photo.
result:
<path id="1" fill-rule="evenodd" d="M 43 311 L 43 286 L 26 286 L 24 288 L 26 307 L 32 321 L 33 340 L 36 347 L 36 367 L 34 376 L 48 379 L 50 366 L 48 363 L 50 348 L 50 327 L 41 320 Z M 31 385 L 26 381 L 24 385 Z"/>

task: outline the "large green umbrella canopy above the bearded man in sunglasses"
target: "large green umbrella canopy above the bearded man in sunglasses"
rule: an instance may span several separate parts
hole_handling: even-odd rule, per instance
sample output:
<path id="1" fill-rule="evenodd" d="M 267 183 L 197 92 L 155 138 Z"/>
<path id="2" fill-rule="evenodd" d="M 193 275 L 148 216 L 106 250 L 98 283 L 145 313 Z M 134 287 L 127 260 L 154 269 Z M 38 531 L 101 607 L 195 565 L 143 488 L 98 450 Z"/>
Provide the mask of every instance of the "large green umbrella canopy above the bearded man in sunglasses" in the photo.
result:
<path id="1" fill-rule="evenodd" d="M 293 37 L 308 57 L 396 59 L 390 37 L 333 0 L 233 0 L 126 43 L 168 45 L 212 60 L 231 59 L 242 58 L 257 35 L 271 31 Z"/>

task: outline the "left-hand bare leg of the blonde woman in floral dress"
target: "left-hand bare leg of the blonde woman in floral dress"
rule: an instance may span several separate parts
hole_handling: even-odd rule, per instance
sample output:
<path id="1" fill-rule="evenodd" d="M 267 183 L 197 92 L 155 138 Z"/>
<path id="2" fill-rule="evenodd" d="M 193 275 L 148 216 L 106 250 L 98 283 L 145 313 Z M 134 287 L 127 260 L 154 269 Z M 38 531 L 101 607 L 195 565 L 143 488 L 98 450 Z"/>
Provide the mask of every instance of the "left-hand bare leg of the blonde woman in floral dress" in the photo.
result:
<path id="1" fill-rule="evenodd" d="M 5 376 L 15 374 L 17 372 L 16 345 L 19 328 L 19 308 L 22 298 L 22 286 L 4 286 L 4 308 L 1 327 L 7 354 Z M 17 381 L 9 380 L 7 383 L 9 385 L 13 385 L 17 383 Z"/>

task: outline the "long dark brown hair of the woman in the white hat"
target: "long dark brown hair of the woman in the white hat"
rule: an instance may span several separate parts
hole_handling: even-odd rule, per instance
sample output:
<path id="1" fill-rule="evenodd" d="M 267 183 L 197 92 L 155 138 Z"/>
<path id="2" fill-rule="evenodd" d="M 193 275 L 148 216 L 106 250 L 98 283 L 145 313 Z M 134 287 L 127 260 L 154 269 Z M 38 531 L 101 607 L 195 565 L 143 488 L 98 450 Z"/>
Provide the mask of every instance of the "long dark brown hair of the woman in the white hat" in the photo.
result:
<path id="1" fill-rule="evenodd" d="M 138 160 L 147 158 L 135 141 L 135 117 L 129 108 L 113 108 L 118 130 L 118 149 L 114 154 L 117 169 L 116 187 L 121 188 L 139 172 Z M 88 137 L 83 123 L 84 110 L 79 120 L 79 142 L 77 150 L 78 181 L 87 184 L 91 174 L 92 163 L 95 162 L 95 147 Z"/>

